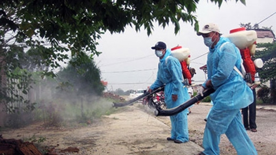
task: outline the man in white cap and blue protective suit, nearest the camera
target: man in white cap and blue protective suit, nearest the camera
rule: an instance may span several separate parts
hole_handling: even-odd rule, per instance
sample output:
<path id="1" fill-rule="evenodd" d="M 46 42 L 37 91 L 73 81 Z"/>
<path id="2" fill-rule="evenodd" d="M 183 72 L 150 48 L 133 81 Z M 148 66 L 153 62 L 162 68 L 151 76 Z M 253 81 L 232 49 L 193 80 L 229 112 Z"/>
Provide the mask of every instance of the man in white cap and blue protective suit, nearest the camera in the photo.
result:
<path id="1" fill-rule="evenodd" d="M 198 89 L 198 94 L 209 87 L 215 89 L 210 95 L 213 107 L 207 118 L 203 137 L 204 151 L 198 155 L 219 155 L 221 134 L 226 134 L 238 155 L 256 155 L 257 151 L 242 124 L 240 109 L 253 102 L 252 90 L 234 70 L 241 70 L 239 49 L 227 38 L 221 37 L 216 24 L 204 25 L 198 32 L 209 47 L 207 57 L 208 78 Z"/>

